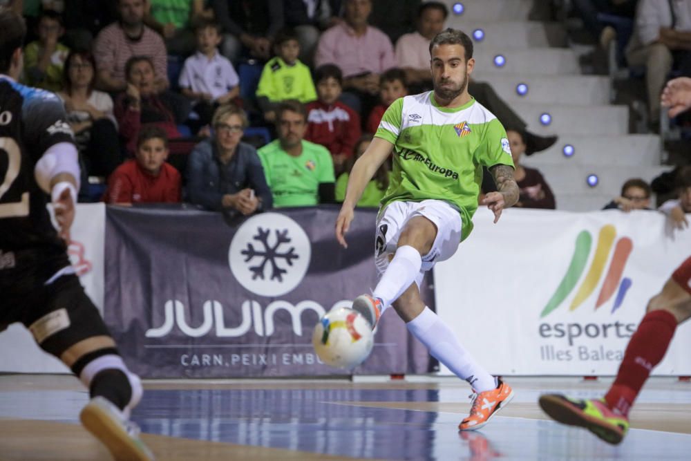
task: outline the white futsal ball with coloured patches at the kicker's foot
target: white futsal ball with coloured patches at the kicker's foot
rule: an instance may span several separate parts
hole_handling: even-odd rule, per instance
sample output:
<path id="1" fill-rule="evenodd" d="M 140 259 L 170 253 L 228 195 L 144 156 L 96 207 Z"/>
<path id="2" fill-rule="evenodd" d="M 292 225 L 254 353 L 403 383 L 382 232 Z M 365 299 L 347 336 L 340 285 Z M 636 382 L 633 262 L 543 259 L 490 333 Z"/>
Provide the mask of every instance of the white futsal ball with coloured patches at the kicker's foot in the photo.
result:
<path id="1" fill-rule="evenodd" d="M 321 361 L 336 368 L 354 368 L 372 352 L 372 327 L 362 314 L 348 308 L 331 310 L 319 320 L 312 345 Z"/>

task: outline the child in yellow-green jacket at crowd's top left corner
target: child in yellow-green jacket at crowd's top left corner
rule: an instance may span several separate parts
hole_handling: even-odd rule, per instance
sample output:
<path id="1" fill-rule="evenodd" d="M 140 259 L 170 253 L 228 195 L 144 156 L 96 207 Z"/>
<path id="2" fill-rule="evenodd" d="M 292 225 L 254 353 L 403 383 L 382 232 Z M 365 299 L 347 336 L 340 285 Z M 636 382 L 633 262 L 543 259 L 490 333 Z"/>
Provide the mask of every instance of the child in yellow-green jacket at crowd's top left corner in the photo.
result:
<path id="1" fill-rule="evenodd" d="M 53 10 L 44 10 L 39 15 L 37 26 L 39 39 L 32 41 L 24 50 L 24 73 L 26 84 L 60 91 L 63 86 L 63 68 L 69 48 L 59 43 L 65 32 L 62 17 Z"/>

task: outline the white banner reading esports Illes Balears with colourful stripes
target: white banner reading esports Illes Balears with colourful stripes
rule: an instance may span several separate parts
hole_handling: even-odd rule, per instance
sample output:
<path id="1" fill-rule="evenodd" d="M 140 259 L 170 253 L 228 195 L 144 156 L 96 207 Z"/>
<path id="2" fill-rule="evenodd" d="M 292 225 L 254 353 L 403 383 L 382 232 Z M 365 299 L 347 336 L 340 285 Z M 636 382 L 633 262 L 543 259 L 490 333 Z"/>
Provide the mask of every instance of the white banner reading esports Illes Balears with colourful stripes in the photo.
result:
<path id="1" fill-rule="evenodd" d="M 647 301 L 691 254 L 657 211 L 509 209 L 435 267 L 437 312 L 491 373 L 615 375 Z M 655 375 L 691 375 L 691 322 Z M 443 374 L 451 374 L 442 368 Z"/>

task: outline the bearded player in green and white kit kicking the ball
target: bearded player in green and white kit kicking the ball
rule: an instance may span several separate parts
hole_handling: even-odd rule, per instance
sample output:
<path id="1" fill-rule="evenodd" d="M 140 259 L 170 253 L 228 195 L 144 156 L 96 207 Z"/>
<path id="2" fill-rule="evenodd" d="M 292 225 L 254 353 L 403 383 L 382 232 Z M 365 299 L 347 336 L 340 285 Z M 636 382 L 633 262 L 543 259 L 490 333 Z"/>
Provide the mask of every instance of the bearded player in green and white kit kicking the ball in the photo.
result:
<path id="1" fill-rule="evenodd" d="M 367 151 L 350 173 L 336 238 L 347 247 L 345 232 L 354 207 L 379 165 L 393 152 L 393 173 L 381 200 L 375 236 L 375 265 L 380 274 L 372 295 L 352 308 L 374 328 L 388 305 L 439 362 L 473 387 L 471 412 L 461 431 L 480 429 L 513 398 L 511 386 L 490 375 L 458 342 L 453 330 L 426 307 L 419 285 L 437 261 L 451 258 L 473 227 L 482 167 L 497 191 L 482 203 L 494 213 L 518 201 L 511 147 L 497 117 L 468 94 L 475 66 L 473 41 L 446 29 L 430 42 L 433 91 L 396 100 L 384 113 Z M 489 328 L 489 327 L 488 327 Z M 488 330 L 491 335 L 491 330 Z"/>

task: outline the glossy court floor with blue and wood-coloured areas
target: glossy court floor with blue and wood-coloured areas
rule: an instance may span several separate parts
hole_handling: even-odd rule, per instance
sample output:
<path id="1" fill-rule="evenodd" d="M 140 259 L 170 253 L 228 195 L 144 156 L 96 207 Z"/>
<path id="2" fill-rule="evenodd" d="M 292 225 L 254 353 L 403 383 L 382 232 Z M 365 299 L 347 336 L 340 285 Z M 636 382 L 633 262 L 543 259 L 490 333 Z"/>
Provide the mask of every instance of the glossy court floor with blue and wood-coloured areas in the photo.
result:
<path id="1" fill-rule="evenodd" d="M 691 383 L 651 379 L 627 439 L 609 446 L 536 404 L 599 396 L 609 379 L 507 381 L 515 399 L 475 433 L 456 430 L 468 386 L 438 377 L 149 381 L 133 419 L 158 460 L 691 459 Z M 78 424 L 87 399 L 67 375 L 0 375 L 0 461 L 110 459 Z"/>

